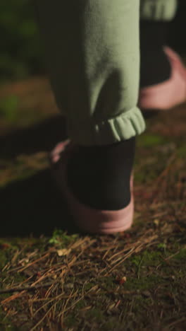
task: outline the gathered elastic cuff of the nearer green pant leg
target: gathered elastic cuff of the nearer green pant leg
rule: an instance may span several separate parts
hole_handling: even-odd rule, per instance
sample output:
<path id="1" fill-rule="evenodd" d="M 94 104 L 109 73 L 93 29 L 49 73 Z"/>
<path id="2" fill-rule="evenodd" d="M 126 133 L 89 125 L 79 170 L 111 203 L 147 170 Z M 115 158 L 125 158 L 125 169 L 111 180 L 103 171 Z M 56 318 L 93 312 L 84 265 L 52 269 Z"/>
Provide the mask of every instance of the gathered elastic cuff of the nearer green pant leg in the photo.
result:
<path id="1" fill-rule="evenodd" d="M 97 124 L 75 121 L 68 122 L 67 126 L 68 137 L 82 146 L 114 144 L 142 134 L 146 128 L 142 112 L 137 107 Z"/>

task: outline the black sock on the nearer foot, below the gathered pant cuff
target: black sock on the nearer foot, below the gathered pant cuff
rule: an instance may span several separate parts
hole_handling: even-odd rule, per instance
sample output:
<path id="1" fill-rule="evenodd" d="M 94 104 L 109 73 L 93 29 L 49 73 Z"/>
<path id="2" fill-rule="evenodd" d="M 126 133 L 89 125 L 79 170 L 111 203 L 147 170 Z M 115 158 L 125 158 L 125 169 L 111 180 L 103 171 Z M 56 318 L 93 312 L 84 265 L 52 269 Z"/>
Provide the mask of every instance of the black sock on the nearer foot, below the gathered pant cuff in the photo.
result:
<path id="1" fill-rule="evenodd" d="M 68 185 L 94 209 L 123 209 L 130 203 L 135 137 L 109 146 L 80 146 L 68 163 Z"/>

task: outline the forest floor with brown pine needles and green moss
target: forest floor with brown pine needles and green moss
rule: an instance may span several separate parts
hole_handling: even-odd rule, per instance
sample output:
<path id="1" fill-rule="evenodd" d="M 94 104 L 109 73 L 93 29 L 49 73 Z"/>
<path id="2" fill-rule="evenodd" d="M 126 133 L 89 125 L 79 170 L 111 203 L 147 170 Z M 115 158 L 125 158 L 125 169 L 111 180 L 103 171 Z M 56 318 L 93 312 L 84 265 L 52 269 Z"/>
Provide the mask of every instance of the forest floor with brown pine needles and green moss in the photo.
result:
<path id="1" fill-rule="evenodd" d="M 132 228 L 89 235 L 51 180 L 66 130 L 48 80 L 0 99 L 0 330 L 185 330 L 186 104 L 137 138 Z"/>

